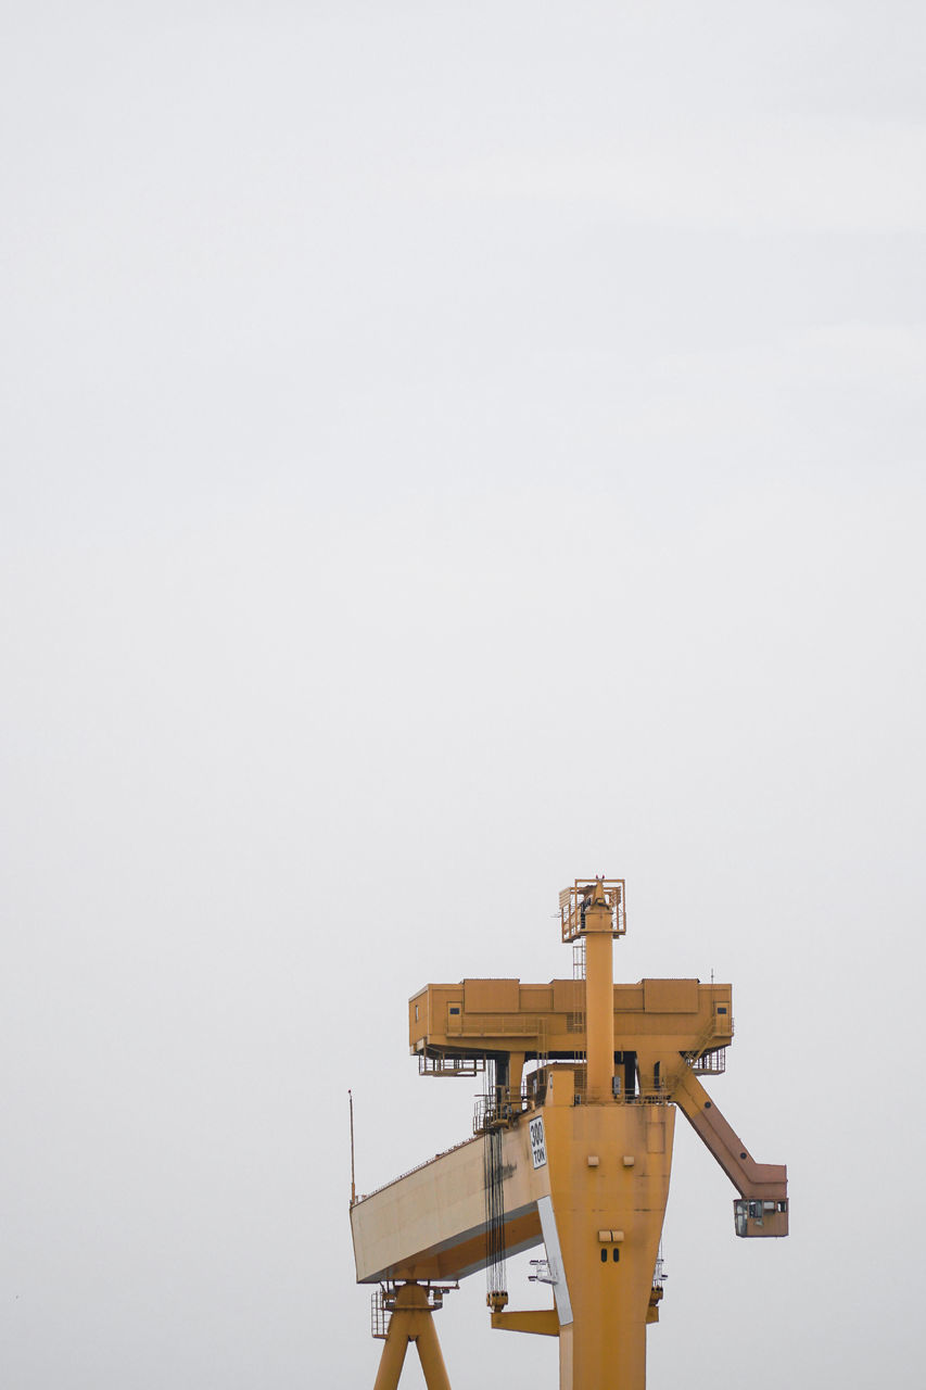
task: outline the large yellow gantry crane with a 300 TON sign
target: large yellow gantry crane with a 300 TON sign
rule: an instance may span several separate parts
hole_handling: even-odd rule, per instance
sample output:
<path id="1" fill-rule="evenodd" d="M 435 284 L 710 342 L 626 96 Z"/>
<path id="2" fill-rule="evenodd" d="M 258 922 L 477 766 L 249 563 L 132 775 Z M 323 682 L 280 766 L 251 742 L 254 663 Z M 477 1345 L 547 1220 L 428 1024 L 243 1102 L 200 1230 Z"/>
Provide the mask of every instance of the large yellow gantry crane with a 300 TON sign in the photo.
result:
<path id="1" fill-rule="evenodd" d="M 740 1194 L 737 1236 L 788 1233 L 787 1169 L 756 1163 L 698 1080 L 723 1072 L 731 987 L 615 984 L 622 878 L 577 878 L 560 926 L 571 980 L 428 984 L 409 1001 L 421 1074 L 482 1074 L 487 1088 L 473 1138 L 367 1197 L 352 1190 L 357 1282 L 380 1286 L 374 1390 L 395 1390 L 412 1341 L 428 1390 L 449 1390 L 434 1312 L 480 1269 L 494 1327 L 559 1339 L 560 1390 L 644 1390 L 676 1106 Z M 505 1258 L 541 1243 L 552 1307 L 509 1309 Z"/>

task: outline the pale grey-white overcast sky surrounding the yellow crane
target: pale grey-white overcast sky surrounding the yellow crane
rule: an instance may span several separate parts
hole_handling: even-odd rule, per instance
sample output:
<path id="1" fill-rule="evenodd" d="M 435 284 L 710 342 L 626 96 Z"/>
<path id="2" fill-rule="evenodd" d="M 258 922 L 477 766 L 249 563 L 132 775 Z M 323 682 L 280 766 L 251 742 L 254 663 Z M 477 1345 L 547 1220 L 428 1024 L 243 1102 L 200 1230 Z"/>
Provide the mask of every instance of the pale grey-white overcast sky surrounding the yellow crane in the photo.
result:
<path id="1" fill-rule="evenodd" d="M 406 997 L 585 873 L 790 1165 L 680 1120 L 651 1390 L 919 1390 L 923 14 L 0 6 L 10 1390 L 371 1387 L 346 1090 L 464 1137 Z"/>

